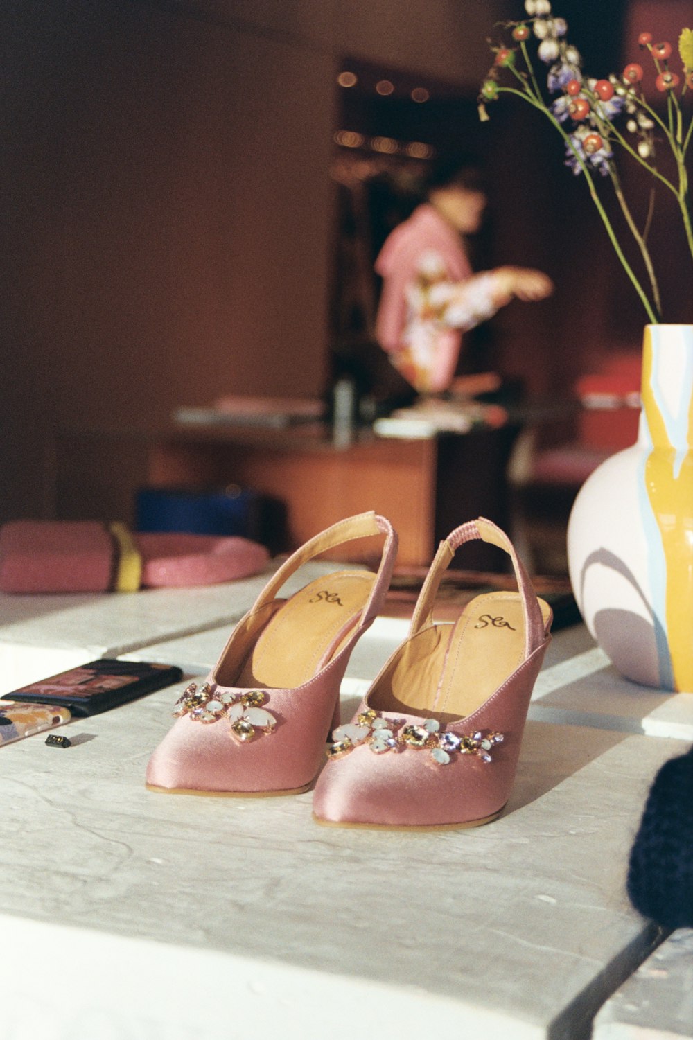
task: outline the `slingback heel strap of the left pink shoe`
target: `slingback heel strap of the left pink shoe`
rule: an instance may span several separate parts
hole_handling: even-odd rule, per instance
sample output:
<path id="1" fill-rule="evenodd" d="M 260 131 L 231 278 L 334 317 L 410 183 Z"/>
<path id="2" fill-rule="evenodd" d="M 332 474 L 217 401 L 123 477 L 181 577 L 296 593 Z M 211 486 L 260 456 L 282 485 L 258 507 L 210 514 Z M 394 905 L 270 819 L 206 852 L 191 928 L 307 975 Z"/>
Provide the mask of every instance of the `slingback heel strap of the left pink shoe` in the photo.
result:
<path id="1" fill-rule="evenodd" d="M 385 517 L 378 516 L 374 512 L 360 513 L 357 516 L 348 517 L 345 520 L 339 520 L 337 523 L 332 524 L 331 527 L 327 527 L 320 531 L 319 535 L 315 535 L 309 539 L 309 541 L 302 545 L 300 549 L 297 549 L 282 564 L 268 584 L 265 586 L 253 609 L 257 610 L 265 604 L 271 603 L 286 579 L 299 567 L 312 560 L 313 556 L 325 552 L 326 549 L 333 549 L 338 545 L 343 545 L 344 542 L 353 542 L 358 538 L 368 538 L 373 535 L 384 535 L 385 544 L 383 545 L 378 574 L 358 625 L 359 630 L 367 628 L 378 614 L 389 588 L 392 568 L 394 567 L 394 560 L 397 554 L 397 536 L 392 524 Z"/>

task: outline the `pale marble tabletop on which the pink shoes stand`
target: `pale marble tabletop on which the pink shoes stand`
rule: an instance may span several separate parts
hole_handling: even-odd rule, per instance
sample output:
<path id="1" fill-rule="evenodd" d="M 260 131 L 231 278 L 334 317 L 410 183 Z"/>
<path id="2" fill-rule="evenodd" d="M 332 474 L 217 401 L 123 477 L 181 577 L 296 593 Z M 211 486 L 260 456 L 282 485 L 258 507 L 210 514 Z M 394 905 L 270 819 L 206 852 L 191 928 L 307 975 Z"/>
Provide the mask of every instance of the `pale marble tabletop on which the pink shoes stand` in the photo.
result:
<path id="1" fill-rule="evenodd" d="M 223 587 L 185 603 L 177 593 L 179 613 L 164 604 L 158 629 L 148 594 L 127 607 L 107 598 L 126 613 L 108 620 L 102 606 L 91 631 L 97 604 L 53 600 L 45 639 L 49 650 L 105 641 L 199 674 L 257 591 L 237 590 L 235 605 Z M 40 620 L 16 616 L 0 651 L 14 636 L 40 648 Z M 363 638 L 342 717 L 405 630 L 380 618 Z M 610 670 L 582 626 L 557 634 L 507 809 L 472 830 L 324 828 L 310 791 L 147 790 L 147 760 L 182 683 L 74 720 L 62 730 L 69 749 L 43 734 L 8 745 L 0 950 L 12 999 L 0 1040 L 418 1040 L 432 1029 L 587 1040 L 663 938 L 628 904 L 627 855 L 657 770 L 688 748 L 682 702 L 648 691 L 628 709 Z M 657 735 L 645 720 L 667 704 L 673 725 Z"/>

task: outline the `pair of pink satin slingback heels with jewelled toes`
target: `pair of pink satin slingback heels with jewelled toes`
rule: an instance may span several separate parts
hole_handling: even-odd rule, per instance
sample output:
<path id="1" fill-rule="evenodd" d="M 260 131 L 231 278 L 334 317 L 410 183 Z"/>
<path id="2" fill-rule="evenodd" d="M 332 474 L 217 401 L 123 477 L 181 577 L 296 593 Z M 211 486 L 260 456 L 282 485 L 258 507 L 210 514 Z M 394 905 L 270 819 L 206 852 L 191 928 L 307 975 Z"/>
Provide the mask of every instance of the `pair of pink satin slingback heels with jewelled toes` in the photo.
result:
<path id="1" fill-rule="evenodd" d="M 335 570 L 277 598 L 298 567 L 345 542 L 384 538 L 377 574 Z M 433 606 L 455 550 L 472 539 L 505 549 L 518 592 L 477 596 L 455 623 Z M 339 685 L 380 609 L 396 554 L 390 523 L 364 513 L 293 553 L 235 627 L 151 757 L 147 784 L 170 794 L 291 795 L 319 773 L 319 823 L 465 827 L 488 823 L 510 795 L 532 688 L 548 645 L 550 608 L 537 599 L 508 537 L 479 518 L 440 543 L 402 646 L 352 721 Z M 334 728 L 332 743 L 325 739 Z"/>

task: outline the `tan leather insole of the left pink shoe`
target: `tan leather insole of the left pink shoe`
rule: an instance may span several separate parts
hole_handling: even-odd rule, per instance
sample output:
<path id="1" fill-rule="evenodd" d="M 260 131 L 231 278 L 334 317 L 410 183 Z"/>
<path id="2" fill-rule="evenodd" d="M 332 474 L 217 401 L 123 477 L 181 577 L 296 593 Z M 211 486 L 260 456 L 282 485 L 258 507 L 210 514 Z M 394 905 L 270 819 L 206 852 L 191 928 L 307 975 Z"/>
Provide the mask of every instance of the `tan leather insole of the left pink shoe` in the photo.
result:
<path id="1" fill-rule="evenodd" d="M 292 688 L 311 679 L 349 638 L 375 580 L 370 571 L 336 571 L 305 586 L 262 631 L 236 685 Z"/>

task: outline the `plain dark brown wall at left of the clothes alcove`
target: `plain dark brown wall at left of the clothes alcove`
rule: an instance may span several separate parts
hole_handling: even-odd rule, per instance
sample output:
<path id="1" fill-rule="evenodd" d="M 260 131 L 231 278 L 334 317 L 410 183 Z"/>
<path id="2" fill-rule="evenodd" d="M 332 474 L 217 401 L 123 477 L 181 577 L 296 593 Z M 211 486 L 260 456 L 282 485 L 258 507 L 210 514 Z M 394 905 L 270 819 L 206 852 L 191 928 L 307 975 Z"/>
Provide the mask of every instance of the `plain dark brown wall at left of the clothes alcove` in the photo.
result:
<path id="1" fill-rule="evenodd" d="M 36 515 L 56 425 L 323 390 L 334 62 L 157 5 L 2 22 L 2 510 Z"/>

